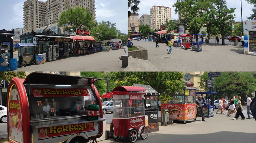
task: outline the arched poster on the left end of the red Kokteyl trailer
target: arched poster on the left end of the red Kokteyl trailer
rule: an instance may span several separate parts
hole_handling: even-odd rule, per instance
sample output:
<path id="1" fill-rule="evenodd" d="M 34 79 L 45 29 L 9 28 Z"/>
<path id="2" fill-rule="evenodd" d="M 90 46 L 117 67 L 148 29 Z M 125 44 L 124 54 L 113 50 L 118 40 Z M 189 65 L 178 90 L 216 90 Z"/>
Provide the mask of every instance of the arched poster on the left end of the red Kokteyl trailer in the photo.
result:
<path id="1" fill-rule="evenodd" d="M 23 143 L 22 113 L 19 94 L 15 86 L 12 86 L 9 97 L 9 134 L 12 140 Z"/>

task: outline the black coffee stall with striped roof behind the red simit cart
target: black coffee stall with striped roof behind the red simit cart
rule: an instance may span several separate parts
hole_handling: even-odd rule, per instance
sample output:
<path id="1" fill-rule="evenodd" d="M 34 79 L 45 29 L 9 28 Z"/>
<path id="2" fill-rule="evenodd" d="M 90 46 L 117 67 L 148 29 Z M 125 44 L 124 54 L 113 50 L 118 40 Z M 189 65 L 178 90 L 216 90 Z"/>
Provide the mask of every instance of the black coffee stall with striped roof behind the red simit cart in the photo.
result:
<path id="1" fill-rule="evenodd" d="M 157 91 L 155 91 L 150 85 L 132 84 L 132 86 L 142 87 L 146 90 L 144 92 L 144 93 L 146 93 L 144 95 L 144 97 L 145 97 L 144 110 L 145 110 L 145 115 L 148 116 L 148 126 L 147 126 L 148 133 L 159 131 L 158 109 L 159 109 L 159 107 L 161 109 L 161 105 L 158 104 L 159 93 Z"/>

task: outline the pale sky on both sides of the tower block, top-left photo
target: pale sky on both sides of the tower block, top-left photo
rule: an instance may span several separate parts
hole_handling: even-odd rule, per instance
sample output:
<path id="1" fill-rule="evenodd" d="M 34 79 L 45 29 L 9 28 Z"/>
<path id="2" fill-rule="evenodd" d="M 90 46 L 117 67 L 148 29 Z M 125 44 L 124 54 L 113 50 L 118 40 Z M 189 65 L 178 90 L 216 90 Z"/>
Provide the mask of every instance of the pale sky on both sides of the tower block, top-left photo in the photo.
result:
<path id="1" fill-rule="evenodd" d="M 0 30 L 23 27 L 23 4 L 26 0 L 0 0 Z M 46 0 L 40 0 L 46 1 Z M 116 23 L 116 28 L 127 33 L 128 0 L 95 0 L 96 20 Z"/>

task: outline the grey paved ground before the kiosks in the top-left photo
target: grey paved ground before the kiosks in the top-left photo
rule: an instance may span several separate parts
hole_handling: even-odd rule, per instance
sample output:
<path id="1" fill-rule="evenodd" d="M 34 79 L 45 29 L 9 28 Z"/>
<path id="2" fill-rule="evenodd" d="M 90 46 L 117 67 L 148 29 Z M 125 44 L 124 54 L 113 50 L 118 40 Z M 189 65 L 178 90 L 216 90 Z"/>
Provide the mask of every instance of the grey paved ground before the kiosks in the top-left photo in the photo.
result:
<path id="1" fill-rule="evenodd" d="M 69 58 L 64 58 L 64 59 L 59 59 L 54 61 L 47 61 L 46 64 L 40 64 L 40 65 L 27 64 L 25 67 L 18 67 L 16 71 L 17 72 L 19 71 L 22 71 L 22 72 L 24 71 L 26 72 L 35 72 L 35 71 L 121 72 L 125 68 L 122 67 L 122 61 L 119 60 L 119 57 L 121 57 L 124 54 L 125 54 L 125 51 L 120 49 L 110 50 L 110 51 L 101 51 L 97 53 L 72 56 Z M 17 57 L 17 55 L 15 56 Z"/>

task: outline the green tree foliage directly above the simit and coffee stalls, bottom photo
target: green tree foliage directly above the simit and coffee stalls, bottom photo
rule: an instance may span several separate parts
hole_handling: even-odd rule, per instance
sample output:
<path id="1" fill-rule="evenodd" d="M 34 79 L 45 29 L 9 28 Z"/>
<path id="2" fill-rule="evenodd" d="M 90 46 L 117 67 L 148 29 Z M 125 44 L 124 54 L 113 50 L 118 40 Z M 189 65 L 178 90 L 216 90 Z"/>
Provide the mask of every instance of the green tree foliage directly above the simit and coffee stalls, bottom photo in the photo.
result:
<path id="1" fill-rule="evenodd" d="M 181 92 L 184 86 L 181 72 L 112 72 L 111 82 L 115 86 L 148 84 L 161 95 Z"/>

